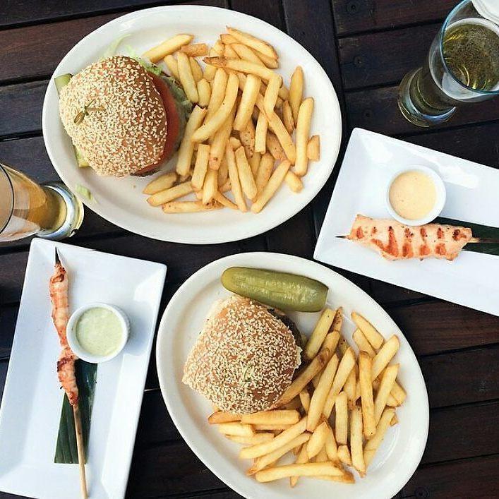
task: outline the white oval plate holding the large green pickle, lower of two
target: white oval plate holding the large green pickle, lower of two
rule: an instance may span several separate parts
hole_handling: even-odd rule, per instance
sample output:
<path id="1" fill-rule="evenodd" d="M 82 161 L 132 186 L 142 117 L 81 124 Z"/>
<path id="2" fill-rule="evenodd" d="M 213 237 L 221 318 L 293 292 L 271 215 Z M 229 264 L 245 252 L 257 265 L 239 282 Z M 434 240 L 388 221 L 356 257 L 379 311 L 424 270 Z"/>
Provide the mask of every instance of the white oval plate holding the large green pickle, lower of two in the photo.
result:
<path id="1" fill-rule="evenodd" d="M 343 307 L 342 334 L 354 345 L 354 325 L 349 319 L 357 311 L 370 320 L 387 338 L 395 334 L 400 349 L 398 379 L 407 390 L 407 399 L 397 408 L 399 423 L 390 428 L 365 478 L 354 472 L 356 483 L 347 485 L 300 479 L 295 488 L 288 480 L 258 483 L 246 476 L 248 461 L 237 457 L 239 444 L 224 438 L 206 420 L 210 402 L 181 381 L 187 354 L 196 342 L 205 315 L 213 301 L 229 292 L 220 276 L 234 265 L 293 272 L 318 279 L 329 287 L 327 304 Z M 290 313 L 303 334 L 309 335 L 319 313 Z M 368 294 L 332 270 L 315 262 L 277 253 L 243 253 L 221 258 L 192 275 L 179 288 L 164 311 L 156 346 L 157 373 L 170 416 L 191 449 L 221 480 L 247 498 L 306 497 L 392 498 L 407 483 L 418 466 L 428 437 L 428 395 L 423 375 L 407 339 L 389 315 Z"/>

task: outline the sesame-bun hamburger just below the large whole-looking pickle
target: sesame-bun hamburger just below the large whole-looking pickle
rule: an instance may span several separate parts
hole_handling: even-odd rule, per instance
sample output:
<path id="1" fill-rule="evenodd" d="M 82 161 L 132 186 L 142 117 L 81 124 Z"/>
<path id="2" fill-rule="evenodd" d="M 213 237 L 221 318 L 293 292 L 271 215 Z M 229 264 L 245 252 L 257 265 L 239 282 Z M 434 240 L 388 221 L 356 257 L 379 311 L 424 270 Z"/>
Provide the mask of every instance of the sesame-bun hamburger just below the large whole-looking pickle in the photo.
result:
<path id="1" fill-rule="evenodd" d="M 271 409 L 300 365 L 301 336 L 284 313 L 242 296 L 212 307 L 183 381 L 222 411 Z"/>

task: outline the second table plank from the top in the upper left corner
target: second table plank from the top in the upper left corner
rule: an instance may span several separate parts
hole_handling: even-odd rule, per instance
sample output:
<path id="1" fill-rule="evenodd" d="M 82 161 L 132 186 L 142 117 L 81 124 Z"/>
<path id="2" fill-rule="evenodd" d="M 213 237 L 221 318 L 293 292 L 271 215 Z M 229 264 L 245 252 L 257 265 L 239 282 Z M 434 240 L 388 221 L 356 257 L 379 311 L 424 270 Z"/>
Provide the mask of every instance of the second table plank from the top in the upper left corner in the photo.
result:
<path id="1" fill-rule="evenodd" d="M 224 0 L 186 3 L 220 7 L 226 5 Z M 0 46 L 4 47 L 0 52 L 0 80 L 48 78 L 76 42 L 122 14 L 123 12 L 104 14 L 0 31 Z"/>

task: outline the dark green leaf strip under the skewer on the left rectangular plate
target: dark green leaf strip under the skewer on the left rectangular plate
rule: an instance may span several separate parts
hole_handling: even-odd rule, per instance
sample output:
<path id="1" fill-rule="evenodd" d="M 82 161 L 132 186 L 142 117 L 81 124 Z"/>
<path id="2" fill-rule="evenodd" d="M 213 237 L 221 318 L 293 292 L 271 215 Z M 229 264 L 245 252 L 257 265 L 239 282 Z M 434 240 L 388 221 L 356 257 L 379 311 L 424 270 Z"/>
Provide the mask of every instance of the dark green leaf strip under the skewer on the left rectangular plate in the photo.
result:
<path id="1" fill-rule="evenodd" d="M 97 364 L 85 362 L 80 359 L 76 361 L 75 373 L 76 384 L 78 385 L 78 406 L 80 407 L 81 428 L 86 457 L 88 435 L 90 434 L 90 416 L 92 415 L 95 383 L 97 381 Z M 66 395 L 64 395 L 64 401 L 62 402 L 61 421 L 59 422 L 59 434 L 57 435 L 54 462 L 62 464 L 78 463 L 73 407 L 71 407 Z"/>

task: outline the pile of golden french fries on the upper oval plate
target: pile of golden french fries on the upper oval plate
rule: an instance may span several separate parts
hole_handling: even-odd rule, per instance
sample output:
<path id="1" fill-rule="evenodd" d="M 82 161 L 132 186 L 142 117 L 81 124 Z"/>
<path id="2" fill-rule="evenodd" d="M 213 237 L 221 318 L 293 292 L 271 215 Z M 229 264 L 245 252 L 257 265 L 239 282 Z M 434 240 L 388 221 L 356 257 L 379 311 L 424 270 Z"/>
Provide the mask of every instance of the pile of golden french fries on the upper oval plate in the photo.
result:
<path id="1" fill-rule="evenodd" d="M 143 54 L 164 61 L 196 104 L 175 172 L 145 187 L 148 203 L 167 213 L 247 212 L 251 204 L 258 213 L 282 182 L 301 191 L 308 161 L 320 159 L 320 138 L 310 136 L 313 97 L 303 99 L 301 66 L 288 90 L 273 71 L 279 58 L 267 42 L 229 27 L 211 49 L 192 41 L 193 35 L 176 35 Z M 203 56 L 202 68 L 196 57 Z M 179 200 L 191 193 L 196 200 Z"/>

